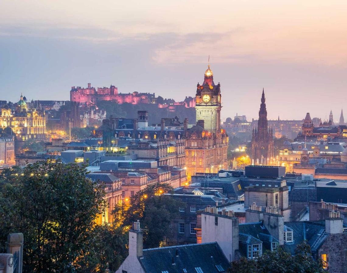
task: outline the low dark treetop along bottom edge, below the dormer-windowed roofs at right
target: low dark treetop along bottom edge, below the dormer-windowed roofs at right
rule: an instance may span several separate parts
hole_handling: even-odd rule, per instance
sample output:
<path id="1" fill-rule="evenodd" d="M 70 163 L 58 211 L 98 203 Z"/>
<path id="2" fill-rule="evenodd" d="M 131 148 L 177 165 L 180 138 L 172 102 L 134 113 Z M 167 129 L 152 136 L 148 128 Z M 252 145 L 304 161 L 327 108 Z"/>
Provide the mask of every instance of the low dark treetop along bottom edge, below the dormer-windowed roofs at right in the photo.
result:
<path id="1" fill-rule="evenodd" d="M 248 260 L 244 257 L 231 263 L 229 273 L 318 273 L 323 272 L 322 260 L 314 260 L 311 248 L 306 242 L 298 245 L 295 255 L 285 252 L 281 247 L 276 251 L 266 251 L 257 260 Z"/>

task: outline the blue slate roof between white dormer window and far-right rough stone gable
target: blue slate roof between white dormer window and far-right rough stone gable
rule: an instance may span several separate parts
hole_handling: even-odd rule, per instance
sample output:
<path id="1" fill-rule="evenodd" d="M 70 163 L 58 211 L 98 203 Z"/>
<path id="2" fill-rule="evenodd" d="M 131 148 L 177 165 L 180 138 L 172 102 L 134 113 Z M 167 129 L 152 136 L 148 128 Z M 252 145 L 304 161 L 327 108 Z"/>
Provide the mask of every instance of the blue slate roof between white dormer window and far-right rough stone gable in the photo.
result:
<path id="1" fill-rule="evenodd" d="M 318 236 L 325 230 L 325 221 L 295 221 L 285 222 L 285 226 L 293 230 L 293 243 L 284 243 L 283 248 L 294 255 L 295 248 L 304 240 L 307 240 L 311 246 L 311 251 L 314 252 L 323 244 L 324 240 L 328 237 L 325 234 L 320 238 L 317 244 L 313 246 Z"/>

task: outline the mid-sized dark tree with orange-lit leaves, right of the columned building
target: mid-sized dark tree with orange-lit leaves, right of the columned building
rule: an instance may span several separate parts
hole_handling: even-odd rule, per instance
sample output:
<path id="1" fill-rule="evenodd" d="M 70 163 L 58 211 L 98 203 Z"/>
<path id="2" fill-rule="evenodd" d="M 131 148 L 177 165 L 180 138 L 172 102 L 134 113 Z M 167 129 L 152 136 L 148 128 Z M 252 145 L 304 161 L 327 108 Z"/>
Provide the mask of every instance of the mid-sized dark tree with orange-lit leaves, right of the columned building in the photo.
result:
<path id="1" fill-rule="evenodd" d="M 136 220 L 144 229 L 143 243 L 146 248 L 159 247 L 168 231 L 171 220 L 178 216 L 184 203 L 170 195 L 172 187 L 166 183 L 148 185 L 130 198 L 129 204 L 117 205 L 113 211 L 118 225 L 128 230 Z"/>

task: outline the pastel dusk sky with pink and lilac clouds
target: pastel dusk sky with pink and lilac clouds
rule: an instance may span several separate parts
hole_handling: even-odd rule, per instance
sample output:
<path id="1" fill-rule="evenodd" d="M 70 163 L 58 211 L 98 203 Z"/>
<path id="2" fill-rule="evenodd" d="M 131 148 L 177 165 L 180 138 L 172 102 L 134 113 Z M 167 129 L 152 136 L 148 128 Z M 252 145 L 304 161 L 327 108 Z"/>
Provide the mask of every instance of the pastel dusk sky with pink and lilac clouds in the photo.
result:
<path id="1" fill-rule="evenodd" d="M 208 56 L 221 117 L 338 121 L 346 107 L 346 1 L 0 1 L 0 99 L 68 100 L 71 86 L 182 101 Z"/>

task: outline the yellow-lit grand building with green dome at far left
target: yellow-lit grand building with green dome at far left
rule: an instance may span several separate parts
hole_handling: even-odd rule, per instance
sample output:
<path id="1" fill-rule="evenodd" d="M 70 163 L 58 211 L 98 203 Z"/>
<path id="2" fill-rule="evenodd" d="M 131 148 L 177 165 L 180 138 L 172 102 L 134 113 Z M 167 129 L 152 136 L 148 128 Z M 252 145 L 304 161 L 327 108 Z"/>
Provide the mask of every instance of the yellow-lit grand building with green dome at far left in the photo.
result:
<path id="1" fill-rule="evenodd" d="M 44 111 L 29 109 L 20 96 L 16 110 L 11 110 L 7 105 L 1 109 L 0 125 L 2 129 L 10 127 L 16 136 L 16 141 L 43 140 L 45 139 L 46 120 Z"/>

